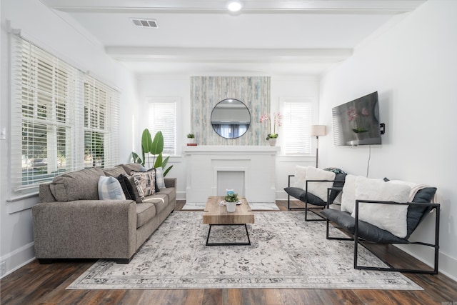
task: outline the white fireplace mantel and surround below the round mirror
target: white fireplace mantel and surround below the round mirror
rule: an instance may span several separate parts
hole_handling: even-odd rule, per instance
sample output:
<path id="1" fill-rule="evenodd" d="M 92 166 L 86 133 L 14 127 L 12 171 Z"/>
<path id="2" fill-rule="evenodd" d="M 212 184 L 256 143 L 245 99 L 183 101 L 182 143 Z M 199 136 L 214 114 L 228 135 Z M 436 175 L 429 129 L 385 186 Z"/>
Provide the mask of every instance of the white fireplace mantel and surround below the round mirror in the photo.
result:
<path id="1" fill-rule="evenodd" d="M 186 201 L 206 202 L 217 194 L 218 176 L 224 171 L 243 175 L 243 191 L 249 202 L 276 200 L 276 146 L 185 146 Z M 227 185 L 230 188 L 231 185 Z"/>

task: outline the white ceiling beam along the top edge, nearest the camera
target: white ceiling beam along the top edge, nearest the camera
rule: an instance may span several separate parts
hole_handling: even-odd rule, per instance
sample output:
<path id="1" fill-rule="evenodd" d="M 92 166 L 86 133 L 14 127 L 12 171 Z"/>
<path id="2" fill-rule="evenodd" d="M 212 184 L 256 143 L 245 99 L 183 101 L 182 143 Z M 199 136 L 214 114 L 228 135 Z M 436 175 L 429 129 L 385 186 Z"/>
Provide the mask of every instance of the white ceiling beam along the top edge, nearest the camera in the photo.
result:
<path id="1" fill-rule="evenodd" d="M 243 1 L 243 0 L 241 0 Z M 41 0 L 51 9 L 66 12 L 224 13 L 227 0 Z M 338 13 L 400 14 L 426 0 L 244 0 L 241 14 Z"/>

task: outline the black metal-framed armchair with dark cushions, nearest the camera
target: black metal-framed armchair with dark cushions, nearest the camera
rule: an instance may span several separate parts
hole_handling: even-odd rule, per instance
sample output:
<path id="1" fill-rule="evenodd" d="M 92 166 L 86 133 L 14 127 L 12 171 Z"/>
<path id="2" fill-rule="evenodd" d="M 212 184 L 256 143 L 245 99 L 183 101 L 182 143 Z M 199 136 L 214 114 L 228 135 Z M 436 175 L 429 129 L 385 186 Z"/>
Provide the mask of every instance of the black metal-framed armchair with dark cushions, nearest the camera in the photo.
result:
<path id="1" fill-rule="evenodd" d="M 417 205 L 417 206 L 423 206 L 425 209 L 423 211 L 423 214 L 421 215 L 421 219 L 419 219 L 418 224 L 420 224 L 423 219 L 428 216 L 433 210 L 436 214 L 435 216 L 435 241 L 434 244 L 429 244 L 421 241 L 408 241 L 408 239 L 400 239 L 397 238 L 396 236 L 393 236 L 392 238 L 386 238 L 386 239 L 381 239 L 379 240 L 370 240 L 367 238 L 367 236 L 363 236 L 363 238 L 360 235 L 361 230 L 359 230 L 359 226 L 364 226 L 365 229 L 368 227 L 371 230 L 380 230 L 383 231 L 381 232 L 384 236 L 386 236 L 385 233 L 388 233 L 387 231 L 384 231 L 377 226 L 373 226 L 371 224 L 366 223 L 365 221 L 359 221 L 358 220 L 358 205 L 360 203 L 366 203 L 366 204 L 401 204 L 401 205 Z M 328 207 L 328 205 L 327 205 Z M 334 224 L 337 224 L 338 229 L 342 229 L 348 234 L 351 234 L 353 238 L 348 237 L 331 237 L 328 234 L 328 224 L 331 222 L 328 218 L 326 219 L 326 239 L 335 239 L 335 240 L 348 240 L 348 241 L 354 241 L 354 269 L 364 269 L 364 270 L 376 270 L 376 271 L 398 271 L 398 272 L 408 272 L 408 273 L 415 273 L 415 274 L 438 274 L 438 256 L 439 256 L 439 226 L 440 226 L 440 204 L 426 204 L 426 203 L 418 203 L 418 202 L 407 202 L 407 203 L 396 203 L 392 201 L 373 201 L 373 200 L 356 200 L 356 205 L 355 205 L 355 217 L 354 217 L 354 231 L 348 231 L 347 229 L 343 228 L 341 224 L 338 224 L 336 221 L 332 221 Z M 346 212 L 341 212 L 340 213 L 346 213 Z M 417 226 L 416 226 L 417 227 Z M 414 228 L 416 229 L 416 228 Z M 376 234 L 373 234 L 375 236 Z M 385 259 L 383 259 L 381 256 L 378 254 L 374 253 L 371 251 L 367 246 L 364 245 L 364 243 L 371 243 L 371 244 L 418 244 L 421 246 L 429 246 L 434 249 L 434 262 L 433 262 L 433 270 L 423 270 L 423 269 L 408 269 L 408 268 L 396 268 L 393 267 L 391 264 L 388 263 Z M 357 263 L 358 259 L 358 244 L 361 244 L 361 246 L 365 247 L 368 251 L 370 251 L 372 254 L 374 254 L 378 259 L 383 261 L 384 264 L 386 264 L 388 267 L 376 267 L 376 266 L 360 266 Z"/>

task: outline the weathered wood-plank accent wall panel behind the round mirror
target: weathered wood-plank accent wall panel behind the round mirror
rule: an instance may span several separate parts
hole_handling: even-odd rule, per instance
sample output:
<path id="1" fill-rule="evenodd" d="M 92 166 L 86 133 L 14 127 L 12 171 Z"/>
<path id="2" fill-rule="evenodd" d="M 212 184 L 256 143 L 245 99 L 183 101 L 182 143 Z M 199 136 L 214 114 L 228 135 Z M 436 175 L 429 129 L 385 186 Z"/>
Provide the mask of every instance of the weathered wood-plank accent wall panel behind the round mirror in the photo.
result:
<path id="1" fill-rule="evenodd" d="M 191 133 L 199 145 L 268 145 L 268 125 L 261 114 L 270 113 L 269 76 L 191 76 Z M 251 112 L 251 126 L 237 139 L 224 139 L 211 126 L 211 111 L 223 99 L 238 99 Z"/>

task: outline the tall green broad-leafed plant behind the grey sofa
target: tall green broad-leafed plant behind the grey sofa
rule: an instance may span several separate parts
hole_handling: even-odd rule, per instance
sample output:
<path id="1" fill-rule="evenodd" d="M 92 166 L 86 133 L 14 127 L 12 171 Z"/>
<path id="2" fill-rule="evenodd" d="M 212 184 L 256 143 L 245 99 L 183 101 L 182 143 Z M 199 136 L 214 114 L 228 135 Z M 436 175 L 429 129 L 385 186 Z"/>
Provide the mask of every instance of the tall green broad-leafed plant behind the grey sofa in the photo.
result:
<path id="1" fill-rule="evenodd" d="M 164 151 L 164 135 L 162 131 L 157 131 L 156 135 L 154 136 L 154 140 L 151 137 L 151 133 L 149 129 L 144 129 L 143 134 L 141 134 L 141 158 L 136 152 L 132 152 L 131 156 L 134 159 L 135 163 L 139 163 L 145 166 L 146 163 L 146 156 L 148 159 L 148 166 L 150 166 L 149 158 L 151 154 L 153 156 L 152 164 L 154 164 L 154 168 L 161 167 L 164 169 L 164 176 L 169 173 L 173 165 L 166 168 L 166 164 L 168 163 L 170 156 L 167 156 L 164 159 L 162 152 Z"/>

